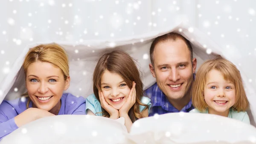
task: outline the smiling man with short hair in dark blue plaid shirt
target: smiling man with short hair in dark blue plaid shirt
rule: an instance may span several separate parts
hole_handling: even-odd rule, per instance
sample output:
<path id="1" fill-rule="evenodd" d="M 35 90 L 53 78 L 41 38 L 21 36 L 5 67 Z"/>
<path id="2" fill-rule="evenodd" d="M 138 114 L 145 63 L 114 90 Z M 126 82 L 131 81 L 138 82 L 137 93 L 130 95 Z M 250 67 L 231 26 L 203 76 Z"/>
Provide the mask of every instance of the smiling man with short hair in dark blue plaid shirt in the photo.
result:
<path id="1" fill-rule="evenodd" d="M 189 112 L 197 60 L 185 37 L 171 32 L 157 37 L 150 47 L 149 68 L 156 83 L 145 90 L 151 99 L 149 116 L 170 112 Z"/>

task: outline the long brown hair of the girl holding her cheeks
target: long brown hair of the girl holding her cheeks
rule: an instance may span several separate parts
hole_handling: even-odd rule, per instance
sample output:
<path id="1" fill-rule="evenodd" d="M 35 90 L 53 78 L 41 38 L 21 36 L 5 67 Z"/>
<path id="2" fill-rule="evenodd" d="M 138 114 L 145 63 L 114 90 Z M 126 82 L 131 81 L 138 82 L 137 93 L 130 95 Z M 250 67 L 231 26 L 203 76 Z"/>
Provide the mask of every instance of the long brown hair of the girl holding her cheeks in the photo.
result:
<path id="1" fill-rule="evenodd" d="M 98 101 L 98 91 L 101 90 L 101 77 L 105 70 L 120 75 L 130 89 L 132 88 L 132 82 L 136 83 L 136 102 L 129 110 L 128 115 L 132 122 L 143 118 L 144 116 L 140 112 L 140 105 L 146 107 L 143 111 L 148 110 L 148 105 L 140 101 L 143 97 L 143 83 L 140 78 L 140 71 L 131 56 L 126 52 L 115 50 L 102 55 L 99 59 L 93 72 L 93 92 Z M 109 113 L 103 108 L 102 113 L 104 117 L 110 117 Z"/>

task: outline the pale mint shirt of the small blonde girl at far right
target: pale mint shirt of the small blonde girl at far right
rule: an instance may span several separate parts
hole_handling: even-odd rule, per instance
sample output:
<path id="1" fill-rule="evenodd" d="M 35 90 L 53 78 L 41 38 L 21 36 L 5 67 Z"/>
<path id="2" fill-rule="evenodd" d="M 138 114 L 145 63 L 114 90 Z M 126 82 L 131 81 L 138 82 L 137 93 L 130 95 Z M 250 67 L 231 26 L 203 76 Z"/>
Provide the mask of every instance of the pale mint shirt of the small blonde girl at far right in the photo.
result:
<path id="1" fill-rule="evenodd" d="M 208 113 L 208 109 L 206 109 L 203 112 L 199 111 L 198 109 L 192 109 L 190 112 Z M 247 112 L 237 112 L 237 111 L 234 111 L 233 109 L 230 109 L 230 112 L 227 117 L 242 121 L 246 124 L 250 124 L 250 119 L 249 119 Z"/>

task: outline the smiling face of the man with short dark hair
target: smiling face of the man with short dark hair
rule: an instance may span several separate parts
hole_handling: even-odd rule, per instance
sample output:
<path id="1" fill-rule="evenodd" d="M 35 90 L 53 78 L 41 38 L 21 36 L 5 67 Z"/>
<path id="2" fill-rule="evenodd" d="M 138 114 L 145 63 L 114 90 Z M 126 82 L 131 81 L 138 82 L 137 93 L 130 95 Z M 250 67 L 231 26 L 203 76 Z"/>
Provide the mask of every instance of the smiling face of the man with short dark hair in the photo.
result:
<path id="1" fill-rule="evenodd" d="M 154 67 L 149 64 L 157 86 L 170 100 L 189 96 L 196 69 L 196 58 L 191 62 L 189 49 L 183 40 L 164 41 L 155 46 Z"/>

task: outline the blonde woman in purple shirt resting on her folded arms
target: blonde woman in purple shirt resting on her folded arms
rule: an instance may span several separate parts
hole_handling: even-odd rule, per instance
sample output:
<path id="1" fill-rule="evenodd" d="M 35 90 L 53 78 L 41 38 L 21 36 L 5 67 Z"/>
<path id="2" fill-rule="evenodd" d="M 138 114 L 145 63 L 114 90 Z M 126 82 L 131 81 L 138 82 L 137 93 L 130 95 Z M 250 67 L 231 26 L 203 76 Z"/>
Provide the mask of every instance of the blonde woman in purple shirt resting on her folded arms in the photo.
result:
<path id="1" fill-rule="evenodd" d="M 23 62 L 27 94 L 0 104 L 0 139 L 31 121 L 52 115 L 84 115 L 85 99 L 63 93 L 70 85 L 67 54 L 57 44 L 35 46 Z"/>

